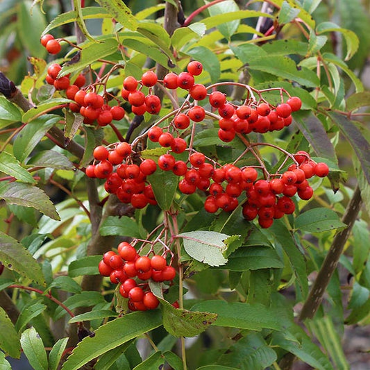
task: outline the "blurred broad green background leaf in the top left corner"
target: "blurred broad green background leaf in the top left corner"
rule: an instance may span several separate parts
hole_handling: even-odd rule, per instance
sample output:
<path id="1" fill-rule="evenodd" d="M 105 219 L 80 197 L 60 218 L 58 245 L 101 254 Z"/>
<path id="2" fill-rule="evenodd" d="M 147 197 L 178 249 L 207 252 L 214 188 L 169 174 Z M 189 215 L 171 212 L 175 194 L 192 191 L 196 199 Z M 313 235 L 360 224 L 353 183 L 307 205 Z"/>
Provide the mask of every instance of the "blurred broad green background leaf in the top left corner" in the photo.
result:
<path id="1" fill-rule="evenodd" d="M 28 0 L 19 3 L 18 35 L 28 49 L 29 55 L 42 58 L 46 54 L 46 49 L 40 44 L 40 36 L 47 26 L 47 21 L 40 8 L 35 6 L 31 11 L 31 5 L 31 1 Z"/>

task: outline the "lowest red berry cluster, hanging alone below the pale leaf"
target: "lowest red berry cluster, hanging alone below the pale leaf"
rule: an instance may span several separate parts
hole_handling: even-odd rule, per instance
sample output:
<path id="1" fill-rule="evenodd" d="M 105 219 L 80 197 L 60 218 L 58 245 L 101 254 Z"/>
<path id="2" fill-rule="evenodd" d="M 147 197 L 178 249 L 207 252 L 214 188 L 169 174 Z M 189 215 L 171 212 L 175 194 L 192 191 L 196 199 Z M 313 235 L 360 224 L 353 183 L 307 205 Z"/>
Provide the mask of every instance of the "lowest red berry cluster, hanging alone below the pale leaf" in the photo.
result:
<path id="1" fill-rule="evenodd" d="M 99 262 L 99 273 L 109 276 L 113 284 L 121 283 L 119 294 L 128 298 L 128 308 L 132 311 L 153 310 L 158 307 L 158 298 L 149 289 L 149 279 L 171 282 L 176 276 L 176 270 L 167 264 L 162 255 L 153 255 L 151 258 L 148 255 L 139 255 L 128 242 L 118 245 L 118 253 L 109 251 L 103 255 L 103 260 Z"/>

